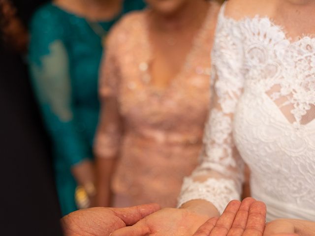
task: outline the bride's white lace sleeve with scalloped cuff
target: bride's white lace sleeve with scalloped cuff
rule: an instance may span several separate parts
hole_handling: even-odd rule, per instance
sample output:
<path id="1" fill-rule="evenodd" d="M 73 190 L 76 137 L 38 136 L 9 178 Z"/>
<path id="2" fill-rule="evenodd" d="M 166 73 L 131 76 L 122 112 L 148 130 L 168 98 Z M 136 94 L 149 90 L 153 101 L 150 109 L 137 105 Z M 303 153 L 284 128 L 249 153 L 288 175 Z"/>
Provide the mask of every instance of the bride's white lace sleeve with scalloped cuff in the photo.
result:
<path id="1" fill-rule="evenodd" d="M 201 163 L 184 179 L 179 206 L 203 199 L 222 213 L 229 201 L 240 198 L 244 164 L 233 143 L 232 120 L 243 88 L 242 60 L 237 24 L 221 12 L 212 51 L 212 110 L 205 127 Z"/>

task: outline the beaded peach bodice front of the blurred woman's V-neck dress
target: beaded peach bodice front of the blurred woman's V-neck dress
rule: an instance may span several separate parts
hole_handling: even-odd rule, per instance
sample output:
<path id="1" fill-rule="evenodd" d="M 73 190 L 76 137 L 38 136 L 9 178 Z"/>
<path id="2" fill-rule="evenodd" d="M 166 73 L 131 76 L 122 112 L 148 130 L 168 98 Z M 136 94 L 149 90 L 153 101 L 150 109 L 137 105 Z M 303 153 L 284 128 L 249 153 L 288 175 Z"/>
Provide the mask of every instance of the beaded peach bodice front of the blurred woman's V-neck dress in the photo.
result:
<path id="1" fill-rule="evenodd" d="M 142 47 L 140 39 L 130 38 L 116 52 L 121 78 L 118 99 L 123 116 L 149 123 L 204 122 L 210 100 L 207 44 L 184 62 L 165 88 L 159 88 L 152 83 L 152 54 Z"/>

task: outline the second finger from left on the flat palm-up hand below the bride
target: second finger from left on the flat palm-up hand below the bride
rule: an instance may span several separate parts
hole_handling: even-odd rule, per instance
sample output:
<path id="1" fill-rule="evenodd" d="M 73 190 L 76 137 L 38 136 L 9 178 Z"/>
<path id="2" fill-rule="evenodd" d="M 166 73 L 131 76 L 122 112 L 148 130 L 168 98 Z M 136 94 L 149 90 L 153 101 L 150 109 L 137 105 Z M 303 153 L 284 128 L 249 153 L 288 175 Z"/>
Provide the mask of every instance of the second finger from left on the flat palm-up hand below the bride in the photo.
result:
<path id="1" fill-rule="evenodd" d="M 226 236 L 233 224 L 236 213 L 238 212 L 240 206 L 240 201 L 231 201 L 225 208 L 216 226 L 210 233 L 210 236 Z"/>

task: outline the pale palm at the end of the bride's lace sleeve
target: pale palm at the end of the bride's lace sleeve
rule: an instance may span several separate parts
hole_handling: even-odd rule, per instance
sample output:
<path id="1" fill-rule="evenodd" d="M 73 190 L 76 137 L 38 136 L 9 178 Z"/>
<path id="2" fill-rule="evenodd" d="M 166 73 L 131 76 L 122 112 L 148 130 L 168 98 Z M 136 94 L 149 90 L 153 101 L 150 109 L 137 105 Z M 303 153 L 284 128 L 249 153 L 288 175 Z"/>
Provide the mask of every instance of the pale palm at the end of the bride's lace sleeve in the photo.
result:
<path id="1" fill-rule="evenodd" d="M 164 208 L 111 236 L 192 236 L 208 219 L 189 209 Z"/>

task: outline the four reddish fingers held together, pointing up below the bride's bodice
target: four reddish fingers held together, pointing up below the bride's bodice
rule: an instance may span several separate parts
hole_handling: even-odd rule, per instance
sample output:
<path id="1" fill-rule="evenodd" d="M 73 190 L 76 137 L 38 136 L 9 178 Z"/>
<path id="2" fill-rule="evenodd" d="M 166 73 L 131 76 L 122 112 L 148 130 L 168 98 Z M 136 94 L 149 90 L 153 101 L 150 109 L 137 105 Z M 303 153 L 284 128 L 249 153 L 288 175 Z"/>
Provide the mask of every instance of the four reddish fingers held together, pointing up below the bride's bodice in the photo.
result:
<path id="1" fill-rule="evenodd" d="M 253 198 L 231 201 L 220 218 L 209 219 L 193 236 L 263 236 L 266 205 Z"/>

